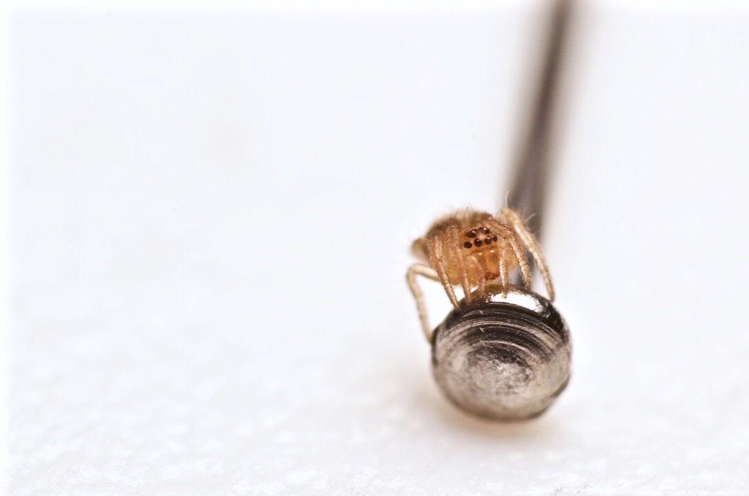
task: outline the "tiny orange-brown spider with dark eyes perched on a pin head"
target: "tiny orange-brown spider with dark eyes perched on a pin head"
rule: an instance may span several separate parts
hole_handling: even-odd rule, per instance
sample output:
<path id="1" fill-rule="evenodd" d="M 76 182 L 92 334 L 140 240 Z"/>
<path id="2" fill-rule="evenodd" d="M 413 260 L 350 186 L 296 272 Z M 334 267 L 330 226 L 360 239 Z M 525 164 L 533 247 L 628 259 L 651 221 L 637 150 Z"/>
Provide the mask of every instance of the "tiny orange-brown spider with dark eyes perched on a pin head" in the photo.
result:
<path id="1" fill-rule="evenodd" d="M 515 210 L 504 208 L 494 217 L 465 209 L 434 222 L 411 246 L 413 255 L 422 263 L 414 263 L 406 273 L 427 340 L 431 341 L 431 328 L 416 275 L 442 284 L 452 306 L 459 308 L 453 286 L 461 286 L 466 304 L 497 293 L 507 296 L 509 272 L 518 267 L 524 286 L 530 290 L 530 266 L 524 250 L 536 260 L 549 299 L 554 301 L 554 286 L 539 242 Z"/>

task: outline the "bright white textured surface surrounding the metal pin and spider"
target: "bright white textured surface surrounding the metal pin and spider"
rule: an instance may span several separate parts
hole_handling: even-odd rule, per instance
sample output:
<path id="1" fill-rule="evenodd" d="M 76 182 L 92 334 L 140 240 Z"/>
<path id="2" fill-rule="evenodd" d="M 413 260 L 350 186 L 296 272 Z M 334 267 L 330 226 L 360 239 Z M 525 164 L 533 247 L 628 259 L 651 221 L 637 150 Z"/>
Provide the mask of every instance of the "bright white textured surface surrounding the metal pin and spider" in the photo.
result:
<path id="1" fill-rule="evenodd" d="M 499 206 L 537 14 L 16 13 L 9 494 L 745 494 L 747 10 L 588 8 L 571 385 L 431 381 L 407 248 Z"/>

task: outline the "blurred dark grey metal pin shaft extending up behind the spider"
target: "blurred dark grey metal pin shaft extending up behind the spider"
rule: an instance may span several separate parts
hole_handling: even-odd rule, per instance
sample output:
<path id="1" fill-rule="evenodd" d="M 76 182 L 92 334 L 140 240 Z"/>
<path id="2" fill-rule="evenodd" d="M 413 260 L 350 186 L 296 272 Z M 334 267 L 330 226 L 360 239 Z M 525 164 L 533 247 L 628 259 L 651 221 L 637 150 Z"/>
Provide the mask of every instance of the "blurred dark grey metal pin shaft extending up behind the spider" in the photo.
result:
<path id="1" fill-rule="evenodd" d="M 568 38 L 571 0 L 554 1 L 548 27 L 548 40 L 536 83 L 536 96 L 530 106 L 527 132 L 520 141 L 508 206 L 527 219 L 536 236 L 541 233 L 545 196 L 548 188 L 554 106 L 560 86 L 560 72 Z M 533 215 L 531 217 L 531 215 Z M 530 218 L 529 218 L 530 217 Z"/>

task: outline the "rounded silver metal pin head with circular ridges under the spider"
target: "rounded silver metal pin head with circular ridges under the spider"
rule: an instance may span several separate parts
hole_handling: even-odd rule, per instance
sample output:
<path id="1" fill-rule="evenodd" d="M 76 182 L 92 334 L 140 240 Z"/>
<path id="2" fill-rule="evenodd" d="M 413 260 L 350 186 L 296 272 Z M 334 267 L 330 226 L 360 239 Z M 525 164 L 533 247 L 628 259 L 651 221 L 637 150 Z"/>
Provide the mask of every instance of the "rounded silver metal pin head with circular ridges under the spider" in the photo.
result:
<path id="1" fill-rule="evenodd" d="M 434 379 L 455 405 L 494 420 L 546 411 L 570 376 L 567 325 L 546 298 L 510 287 L 461 305 L 431 339 Z"/>

